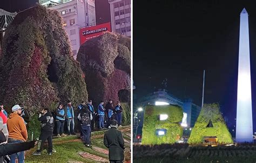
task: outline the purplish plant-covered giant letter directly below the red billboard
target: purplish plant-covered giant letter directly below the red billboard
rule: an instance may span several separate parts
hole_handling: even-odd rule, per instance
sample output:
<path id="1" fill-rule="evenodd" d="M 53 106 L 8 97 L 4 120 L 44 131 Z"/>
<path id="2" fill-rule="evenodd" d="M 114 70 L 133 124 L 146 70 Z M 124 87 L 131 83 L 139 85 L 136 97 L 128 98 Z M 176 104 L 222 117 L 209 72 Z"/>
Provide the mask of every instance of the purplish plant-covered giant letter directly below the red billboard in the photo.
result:
<path id="1" fill-rule="evenodd" d="M 85 74 L 89 98 L 96 104 L 109 99 L 116 104 L 120 90 L 130 91 L 130 43 L 130 38 L 105 32 L 80 46 L 77 60 Z"/>

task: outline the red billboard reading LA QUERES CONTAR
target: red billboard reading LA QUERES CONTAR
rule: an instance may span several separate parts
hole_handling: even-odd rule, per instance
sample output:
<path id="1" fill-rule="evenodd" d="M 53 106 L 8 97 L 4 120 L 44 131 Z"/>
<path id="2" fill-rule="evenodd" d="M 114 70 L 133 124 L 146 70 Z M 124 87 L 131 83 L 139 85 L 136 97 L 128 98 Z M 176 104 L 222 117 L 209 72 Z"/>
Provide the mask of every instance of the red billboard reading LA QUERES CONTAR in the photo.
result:
<path id="1" fill-rule="evenodd" d="M 79 31 L 80 45 L 86 42 L 86 40 L 102 35 L 102 33 L 105 31 L 111 32 L 110 22 L 87 28 L 81 28 Z"/>

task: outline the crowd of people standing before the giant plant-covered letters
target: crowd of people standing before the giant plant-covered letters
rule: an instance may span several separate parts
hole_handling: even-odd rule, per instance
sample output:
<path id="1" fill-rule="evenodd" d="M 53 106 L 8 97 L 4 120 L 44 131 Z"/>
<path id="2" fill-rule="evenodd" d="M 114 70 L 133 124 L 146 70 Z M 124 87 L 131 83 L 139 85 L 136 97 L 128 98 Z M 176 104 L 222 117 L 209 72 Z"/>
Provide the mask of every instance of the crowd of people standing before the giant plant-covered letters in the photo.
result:
<path id="1" fill-rule="evenodd" d="M 28 132 L 26 125 L 30 122 L 31 116 L 28 110 L 19 105 L 15 105 L 11 109 L 11 113 L 8 117 L 8 113 L 4 110 L 3 104 L 0 104 L 0 145 L 5 149 L 5 153 L 0 153 L 0 163 L 4 162 L 4 159 L 9 159 L 10 162 L 24 162 L 24 151 L 32 148 L 36 144 L 37 150 L 33 152 L 33 155 L 41 155 L 43 150 L 43 144 L 48 141 L 48 155 L 52 155 L 52 135 L 53 130 L 56 127 L 57 137 L 66 137 L 68 135 L 75 135 L 75 118 L 77 118 L 80 126 L 80 137 L 82 138 L 86 147 L 90 147 L 91 131 L 95 128 L 99 130 L 110 128 L 105 133 L 104 145 L 111 151 L 111 141 L 120 141 L 120 149 L 124 152 L 124 142 L 122 133 L 117 129 L 122 123 L 123 108 L 118 102 L 114 106 L 113 101 L 109 102 L 104 107 L 104 101 L 100 101 L 100 104 L 95 111 L 92 100 L 87 104 L 84 101 L 77 108 L 78 116 L 75 117 L 75 110 L 71 104 L 71 101 L 67 101 L 67 104 L 59 104 L 56 111 L 51 112 L 49 108 L 43 108 L 38 114 L 38 120 L 41 122 L 41 134 L 38 141 L 26 142 L 28 139 Z M 2 122 L 2 124 L 1 124 Z M 66 123 L 67 134 L 64 133 L 64 124 Z M 56 126 L 55 126 L 56 124 Z M 97 126 L 98 124 L 98 126 Z M 116 132 L 117 138 L 113 137 L 112 132 Z M 2 133 L 2 134 L 1 134 Z M 111 136 L 110 136 L 111 135 Z M 115 140 L 116 139 L 116 140 Z M 22 145 L 23 143 L 25 143 Z M 110 142 L 108 144 L 108 142 Z M 8 150 L 11 145 L 23 146 L 20 150 Z M 113 151 L 113 150 L 112 150 Z M 121 152 L 121 153 L 122 153 Z M 111 154 L 112 153 L 112 154 Z M 113 152 L 110 152 L 113 157 Z M 9 157 L 10 156 L 10 157 Z M 118 158 L 122 160 L 122 154 Z"/>

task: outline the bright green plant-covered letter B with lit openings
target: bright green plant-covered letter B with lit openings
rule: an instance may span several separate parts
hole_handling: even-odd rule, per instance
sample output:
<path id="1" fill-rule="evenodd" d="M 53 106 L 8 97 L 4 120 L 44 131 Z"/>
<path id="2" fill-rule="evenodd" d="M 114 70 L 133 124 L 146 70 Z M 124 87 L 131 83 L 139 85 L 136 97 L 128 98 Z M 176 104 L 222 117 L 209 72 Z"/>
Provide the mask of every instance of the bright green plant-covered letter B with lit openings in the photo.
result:
<path id="1" fill-rule="evenodd" d="M 158 120 L 159 114 L 167 114 L 166 120 Z M 177 135 L 181 137 L 183 128 L 179 122 L 183 118 L 182 108 L 176 105 L 153 106 L 147 105 L 144 114 L 142 130 L 142 144 L 173 144 Z M 166 129 L 167 133 L 162 136 L 156 134 L 157 129 Z"/>

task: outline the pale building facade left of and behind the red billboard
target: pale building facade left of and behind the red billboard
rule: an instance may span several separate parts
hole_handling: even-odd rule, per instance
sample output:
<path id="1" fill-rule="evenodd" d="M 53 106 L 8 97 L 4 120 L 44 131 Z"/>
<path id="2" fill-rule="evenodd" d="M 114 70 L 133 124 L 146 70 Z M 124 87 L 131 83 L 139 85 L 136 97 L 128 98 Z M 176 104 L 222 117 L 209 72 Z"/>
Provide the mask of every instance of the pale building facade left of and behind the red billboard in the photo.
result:
<path id="1" fill-rule="evenodd" d="M 63 18 L 63 26 L 69 35 L 73 57 L 76 59 L 80 47 L 79 30 L 96 25 L 94 0 L 39 0 L 39 3 L 57 10 Z"/>

